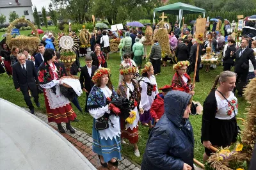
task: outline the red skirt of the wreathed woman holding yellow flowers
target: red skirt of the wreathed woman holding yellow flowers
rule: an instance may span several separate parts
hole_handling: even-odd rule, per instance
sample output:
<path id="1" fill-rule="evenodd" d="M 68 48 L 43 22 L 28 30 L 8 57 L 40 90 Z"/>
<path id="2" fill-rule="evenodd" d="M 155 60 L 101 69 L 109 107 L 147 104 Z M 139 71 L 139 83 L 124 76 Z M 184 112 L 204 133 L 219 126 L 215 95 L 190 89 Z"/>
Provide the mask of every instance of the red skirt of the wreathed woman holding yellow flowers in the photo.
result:
<path id="1" fill-rule="evenodd" d="M 125 129 L 125 120 L 123 118 L 120 118 L 120 124 L 121 124 L 121 138 L 125 138 L 129 140 L 129 143 L 134 144 L 138 143 L 139 141 L 139 127 L 133 128 L 127 128 Z"/>

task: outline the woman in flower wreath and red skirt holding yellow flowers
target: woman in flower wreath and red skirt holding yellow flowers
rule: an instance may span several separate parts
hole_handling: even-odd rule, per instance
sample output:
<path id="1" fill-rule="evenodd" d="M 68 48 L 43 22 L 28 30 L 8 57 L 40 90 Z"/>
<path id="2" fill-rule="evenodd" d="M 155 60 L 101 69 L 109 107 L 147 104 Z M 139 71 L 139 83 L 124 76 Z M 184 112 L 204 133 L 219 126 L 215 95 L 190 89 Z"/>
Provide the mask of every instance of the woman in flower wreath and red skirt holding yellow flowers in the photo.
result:
<path id="1" fill-rule="evenodd" d="M 121 141 L 125 144 L 124 138 L 129 139 L 129 142 L 134 145 L 134 155 L 140 157 L 140 151 L 138 149 L 138 122 L 140 114 L 143 114 L 142 105 L 140 103 L 141 87 L 138 81 L 132 79 L 136 68 L 133 66 L 125 66 L 120 70 L 120 74 L 124 75 L 122 84 L 118 86 L 117 94 L 122 98 L 129 100 L 129 109 L 131 109 L 128 119 L 120 119 L 121 123 Z M 138 109 L 139 108 L 139 109 Z"/>

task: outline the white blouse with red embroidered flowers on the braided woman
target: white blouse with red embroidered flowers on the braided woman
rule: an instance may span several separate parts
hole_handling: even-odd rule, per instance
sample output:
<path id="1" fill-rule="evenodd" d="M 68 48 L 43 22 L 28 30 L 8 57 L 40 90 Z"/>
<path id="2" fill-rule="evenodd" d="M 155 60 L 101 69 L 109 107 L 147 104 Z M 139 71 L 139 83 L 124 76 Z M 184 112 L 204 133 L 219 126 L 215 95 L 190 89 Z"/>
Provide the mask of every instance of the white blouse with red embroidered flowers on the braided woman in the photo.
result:
<path id="1" fill-rule="evenodd" d="M 215 92 L 215 98 L 217 101 L 217 112 L 215 115 L 215 118 L 219 120 L 231 120 L 235 116 L 235 112 L 237 115 L 238 112 L 238 104 L 237 104 L 237 98 L 235 97 L 233 92 L 230 92 L 229 97 L 227 100 L 232 104 L 232 106 L 235 108 L 235 111 L 230 104 L 228 104 L 227 100 L 221 99 L 219 95 Z"/>

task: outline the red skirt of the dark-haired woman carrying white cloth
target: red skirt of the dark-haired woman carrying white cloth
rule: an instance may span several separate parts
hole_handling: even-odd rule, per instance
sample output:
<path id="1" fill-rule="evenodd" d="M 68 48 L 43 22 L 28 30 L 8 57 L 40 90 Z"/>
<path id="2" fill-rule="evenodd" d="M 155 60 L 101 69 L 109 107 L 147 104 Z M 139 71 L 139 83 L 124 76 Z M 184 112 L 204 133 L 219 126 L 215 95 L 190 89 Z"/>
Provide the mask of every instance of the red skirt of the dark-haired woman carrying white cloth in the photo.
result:
<path id="1" fill-rule="evenodd" d="M 49 106 L 47 96 L 45 95 L 45 90 L 44 90 L 44 99 L 45 99 L 45 107 L 46 107 L 49 123 L 50 122 L 68 123 L 68 121 L 72 121 L 76 118 L 76 113 L 73 111 L 70 104 L 67 104 L 63 107 L 58 107 L 56 109 L 51 109 Z"/>

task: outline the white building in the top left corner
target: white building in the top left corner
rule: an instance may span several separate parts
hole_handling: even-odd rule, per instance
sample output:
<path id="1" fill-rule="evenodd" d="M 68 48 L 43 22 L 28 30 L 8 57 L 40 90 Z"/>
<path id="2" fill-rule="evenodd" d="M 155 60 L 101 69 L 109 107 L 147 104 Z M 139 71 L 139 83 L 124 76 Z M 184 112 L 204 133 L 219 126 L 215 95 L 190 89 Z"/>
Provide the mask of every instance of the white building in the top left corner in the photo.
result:
<path id="1" fill-rule="evenodd" d="M 0 0 L 0 14 L 6 16 L 6 22 L 9 22 L 11 12 L 17 13 L 20 17 L 25 16 L 27 20 L 34 22 L 31 0 Z"/>

